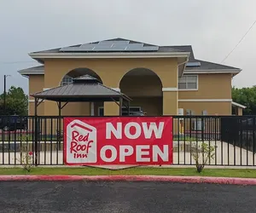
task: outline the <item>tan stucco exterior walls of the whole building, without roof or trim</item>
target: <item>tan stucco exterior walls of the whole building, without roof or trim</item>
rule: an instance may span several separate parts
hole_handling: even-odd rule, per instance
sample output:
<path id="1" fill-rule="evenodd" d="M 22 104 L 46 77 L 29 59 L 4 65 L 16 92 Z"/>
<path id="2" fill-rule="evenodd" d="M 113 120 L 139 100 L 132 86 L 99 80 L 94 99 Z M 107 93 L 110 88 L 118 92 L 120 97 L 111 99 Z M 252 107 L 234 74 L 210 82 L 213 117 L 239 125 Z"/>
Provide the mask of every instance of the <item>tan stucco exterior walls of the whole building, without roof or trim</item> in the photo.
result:
<path id="1" fill-rule="evenodd" d="M 231 102 L 212 101 L 179 101 L 177 99 L 231 99 L 230 74 L 200 74 L 198 90 L 175 91 L 177 88 L 176 59 L 86 59 L 68 60 L 53 59 L 45 61 L 45 75 L 29 77 L 29 93 L 53 88 L 61 83 L 61 79 L 75 68 L 89 68 L 96 72 L 102 83 L 111 88 L 120 88 L 131 96 L 131 106 L 142 107 L 148 115 L 174 115 L 177 108 L 192 110 L 201 115 L 207 110 L 210 115 L 230 115 Z M 125 76 L 134 68 L 144 67 L 152 70 L 157 76 Z M 125 76 L 125 78 L 123 78 Z M 120 83 L 121 79 L 122 83 Z M 162 87 L 166 90 L 162 91 Z M 150 96 L 150 99 L 147 97 Z M 155 99 L 153 98 L 155 97 Z M 32 100 L 32 97 L 30 97 Z M 95 103 L 95 115 L 102 103 Z M 104 103 L 105 115 L 118 115 L 119 106 L 114 102 Z M 241 113 L 241 112 L 240 112 Z M 34 102 L 29 103 L 29 115 L 34 114 Z M 58 108 L 53 101 L 44 101 L 38 107 L 38 115 L 57 115 Z M 90 103 L 68 103 L 62 115 L 90 115 Z"/>

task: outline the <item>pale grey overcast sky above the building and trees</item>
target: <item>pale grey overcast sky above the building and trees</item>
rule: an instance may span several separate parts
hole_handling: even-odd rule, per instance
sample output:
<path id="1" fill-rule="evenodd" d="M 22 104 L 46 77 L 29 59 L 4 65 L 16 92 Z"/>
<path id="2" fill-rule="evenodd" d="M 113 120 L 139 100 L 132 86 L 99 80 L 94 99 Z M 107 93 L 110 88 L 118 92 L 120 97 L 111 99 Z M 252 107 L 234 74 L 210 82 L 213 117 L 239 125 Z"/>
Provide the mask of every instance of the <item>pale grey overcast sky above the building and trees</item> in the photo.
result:
<path id="1" fill-rule="evenodd" d="M 255 0 L 0 0 L 0 91 L 28 80 L 28 53 L 123 37 L 193 46 L 195 58 L 221 63 L 256 20 Z M 256 84 L 256 24 L 222 64 L 241 68 L 232 84 Z M 253 60 L 254 59 L 254 60 Z"/>

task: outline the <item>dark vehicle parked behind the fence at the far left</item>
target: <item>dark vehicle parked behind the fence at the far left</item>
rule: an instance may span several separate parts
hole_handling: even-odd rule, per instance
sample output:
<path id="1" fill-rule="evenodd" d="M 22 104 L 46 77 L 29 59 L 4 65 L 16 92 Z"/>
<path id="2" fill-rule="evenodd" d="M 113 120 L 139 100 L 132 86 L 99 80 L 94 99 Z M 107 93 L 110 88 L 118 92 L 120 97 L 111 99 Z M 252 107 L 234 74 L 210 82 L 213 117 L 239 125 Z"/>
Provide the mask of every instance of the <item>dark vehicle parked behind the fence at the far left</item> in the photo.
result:
<path id="1" fill-rule="evenodd" d="M 0 130 L 14 131 L 14 130 L 26 130 L 27 118 L 20 117 L 18 115 L 0 116 Z"/>

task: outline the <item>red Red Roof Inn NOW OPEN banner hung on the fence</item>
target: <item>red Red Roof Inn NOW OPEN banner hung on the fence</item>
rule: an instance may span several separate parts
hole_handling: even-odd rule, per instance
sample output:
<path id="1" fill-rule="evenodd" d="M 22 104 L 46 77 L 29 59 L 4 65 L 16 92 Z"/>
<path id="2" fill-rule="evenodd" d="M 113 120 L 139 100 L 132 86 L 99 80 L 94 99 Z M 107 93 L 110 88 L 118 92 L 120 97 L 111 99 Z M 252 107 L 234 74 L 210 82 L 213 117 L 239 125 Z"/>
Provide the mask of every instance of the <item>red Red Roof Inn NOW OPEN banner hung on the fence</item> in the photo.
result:
<path id="1" fill-rule="evenodd" d="M 64 161 L 68 165 L 172 164 L 172 118 L 64 118 Z"/>

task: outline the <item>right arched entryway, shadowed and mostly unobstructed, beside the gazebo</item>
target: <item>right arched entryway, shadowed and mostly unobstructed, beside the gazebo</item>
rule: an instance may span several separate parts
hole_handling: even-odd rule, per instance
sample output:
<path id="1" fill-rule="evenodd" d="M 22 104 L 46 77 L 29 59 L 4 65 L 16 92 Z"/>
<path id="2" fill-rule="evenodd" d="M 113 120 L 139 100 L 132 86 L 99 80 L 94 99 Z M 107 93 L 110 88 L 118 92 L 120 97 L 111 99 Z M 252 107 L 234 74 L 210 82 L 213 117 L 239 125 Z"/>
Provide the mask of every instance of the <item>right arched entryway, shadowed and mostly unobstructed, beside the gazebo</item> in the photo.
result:
<path id="1" fill-rule="evenodd" d="M 131 97 L 131 112 L 143 111 L 148 116 L 162 115 L 162 83 L 155 72 L 146 68 L 134 68 L 125 73 L 119 89 Z"/>

